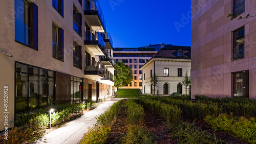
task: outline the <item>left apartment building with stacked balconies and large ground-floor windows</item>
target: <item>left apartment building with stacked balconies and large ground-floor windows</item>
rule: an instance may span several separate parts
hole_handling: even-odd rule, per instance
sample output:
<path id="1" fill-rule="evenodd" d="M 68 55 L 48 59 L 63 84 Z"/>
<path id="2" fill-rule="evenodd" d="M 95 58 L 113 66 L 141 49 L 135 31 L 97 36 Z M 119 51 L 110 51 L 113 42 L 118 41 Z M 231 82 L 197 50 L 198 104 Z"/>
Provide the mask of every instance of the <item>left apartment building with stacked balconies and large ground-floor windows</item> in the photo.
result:
<path id="1" fill-rule="evenodd" d="M 109 97 L 113 42 L 98 1 L 1 2 L 0 100 L 15 115 L 52 104 Z M 0 121 L 3 130 L 4 121 Z"/>

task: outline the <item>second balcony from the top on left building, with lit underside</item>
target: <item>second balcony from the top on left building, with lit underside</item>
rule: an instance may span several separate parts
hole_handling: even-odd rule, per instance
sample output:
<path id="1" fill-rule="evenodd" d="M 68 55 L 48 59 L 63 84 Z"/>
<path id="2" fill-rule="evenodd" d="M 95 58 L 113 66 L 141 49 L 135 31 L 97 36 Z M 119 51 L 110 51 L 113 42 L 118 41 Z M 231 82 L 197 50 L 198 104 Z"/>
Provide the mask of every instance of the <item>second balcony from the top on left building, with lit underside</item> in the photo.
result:
<path id="1" fill-rule="evenodd" d="M 106 44 L 98 31 L 85 31 L 84 45 L 95 55 L 104 56 Z"/>

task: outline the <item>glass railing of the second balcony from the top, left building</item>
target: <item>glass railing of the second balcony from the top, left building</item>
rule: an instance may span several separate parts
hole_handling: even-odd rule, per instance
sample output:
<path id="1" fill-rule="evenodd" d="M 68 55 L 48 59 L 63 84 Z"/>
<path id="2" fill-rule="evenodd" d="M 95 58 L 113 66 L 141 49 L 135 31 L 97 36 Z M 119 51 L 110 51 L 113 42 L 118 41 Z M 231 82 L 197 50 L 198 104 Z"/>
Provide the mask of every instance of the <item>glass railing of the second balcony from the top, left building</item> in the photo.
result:
<path id="1" fill-rule="evenodd" d="M 106 44 L 98 31 L 85 31 L 84 36 L 85 36 L 84 44 L 89 44 L 89 45 L 98 44 L 102 52 L 105 51 Z"/>

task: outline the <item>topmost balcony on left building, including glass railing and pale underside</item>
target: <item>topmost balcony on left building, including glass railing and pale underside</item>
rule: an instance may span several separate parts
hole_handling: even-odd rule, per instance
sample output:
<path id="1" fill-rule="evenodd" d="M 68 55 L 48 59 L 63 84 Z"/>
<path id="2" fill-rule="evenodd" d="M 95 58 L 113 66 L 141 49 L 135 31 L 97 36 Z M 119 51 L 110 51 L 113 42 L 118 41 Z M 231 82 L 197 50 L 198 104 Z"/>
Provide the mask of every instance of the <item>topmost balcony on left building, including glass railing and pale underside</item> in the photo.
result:
<path id="1" fill-rule="evenodd" d="M 99 2 L 86 0 L 84 4 L 84 15 L 88 19 L 92 29 L 104 33 L 106 31 L 106 21 Z"/>

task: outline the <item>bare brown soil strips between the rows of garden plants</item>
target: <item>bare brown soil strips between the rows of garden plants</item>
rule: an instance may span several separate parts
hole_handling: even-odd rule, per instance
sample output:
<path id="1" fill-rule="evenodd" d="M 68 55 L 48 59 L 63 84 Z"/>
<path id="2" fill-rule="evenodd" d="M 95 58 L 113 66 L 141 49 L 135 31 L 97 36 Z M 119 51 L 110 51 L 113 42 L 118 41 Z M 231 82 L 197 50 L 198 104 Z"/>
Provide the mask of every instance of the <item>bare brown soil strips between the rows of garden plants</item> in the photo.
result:
<path id="1" fill-rule="evenodd" d="M 172 133 L 170 133 L 167 124 L 160 116 L 154 115 L 152 111 L 147 109 L 144 109 L 144 113 L 144 125 L 146 126 L 147 131 L 153 135 L 154 143 L 178 143 L 178 139 L 173 140 L 170 138 Z M 122 105 L 117 121 L 111 127 L 111 133 L 106 143 L 122 143 L 122 137 L 124 137 L 127 132 L 126 118 L 125 105 Z M 190 124 L 193 123 L 193 119 L 189 117 L 182 117 L 181 121 Z M 227 143 L 248 143 L 245 140 L 236 138 L 225 131 L 214 131 L 204 121 L 195 121 L 194 125 L 204 131 L 207 131 L 212 136 L 215 135 L 216 138 Z"/>

